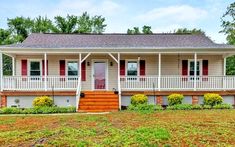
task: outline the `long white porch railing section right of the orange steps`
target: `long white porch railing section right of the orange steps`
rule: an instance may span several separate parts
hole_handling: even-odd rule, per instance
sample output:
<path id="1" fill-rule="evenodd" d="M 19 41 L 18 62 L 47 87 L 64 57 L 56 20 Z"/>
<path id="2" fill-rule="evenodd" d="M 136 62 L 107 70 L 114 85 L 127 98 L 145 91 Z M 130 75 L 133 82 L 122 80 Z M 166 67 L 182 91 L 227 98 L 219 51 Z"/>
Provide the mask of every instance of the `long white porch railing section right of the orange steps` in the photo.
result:
<path id="1" fill-rule="evenodd" d="M 127 91 L 153 90 L 153 87 L 155 90 L 233 90 L 235 76 L 121 76 L 120 84 Z"/>

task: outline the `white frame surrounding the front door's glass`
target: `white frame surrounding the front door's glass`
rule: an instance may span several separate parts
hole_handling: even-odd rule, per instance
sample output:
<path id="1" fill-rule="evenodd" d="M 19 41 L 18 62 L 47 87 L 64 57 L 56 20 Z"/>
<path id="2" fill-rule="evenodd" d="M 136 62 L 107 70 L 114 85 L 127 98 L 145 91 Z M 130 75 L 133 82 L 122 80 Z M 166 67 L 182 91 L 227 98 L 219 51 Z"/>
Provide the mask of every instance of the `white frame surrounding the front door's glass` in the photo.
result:
<path id="1" fill-rule="evenodd" d="M 108 90 L 108 59 L 92 59 L 91 60 L 92 64 L 91 64 L 91 86 L 92 86 L 92 90 L 93 91 L 104 91 L 104 90 Z M 105 68 L 105 89 L 95 89 L 95 79 L 94 79 L 94 65 L 95 62 L 104 62 L 106 64 L 106 68 Z"/>

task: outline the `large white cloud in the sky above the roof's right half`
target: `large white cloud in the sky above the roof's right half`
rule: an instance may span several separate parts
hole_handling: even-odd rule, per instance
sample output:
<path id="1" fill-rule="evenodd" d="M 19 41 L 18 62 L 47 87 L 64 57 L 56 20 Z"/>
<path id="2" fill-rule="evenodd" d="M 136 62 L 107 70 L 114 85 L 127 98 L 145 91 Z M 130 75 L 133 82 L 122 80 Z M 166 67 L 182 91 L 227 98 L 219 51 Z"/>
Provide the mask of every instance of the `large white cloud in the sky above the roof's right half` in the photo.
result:
<path id="1" fill-rule="evenodd" d="M 195 22 L 207 16 L 207 11 L 189 5 L 176 5 L 155 8 L 136 17 L 136 19 L 153 22 L 168 21 L 172 23 Z"/>

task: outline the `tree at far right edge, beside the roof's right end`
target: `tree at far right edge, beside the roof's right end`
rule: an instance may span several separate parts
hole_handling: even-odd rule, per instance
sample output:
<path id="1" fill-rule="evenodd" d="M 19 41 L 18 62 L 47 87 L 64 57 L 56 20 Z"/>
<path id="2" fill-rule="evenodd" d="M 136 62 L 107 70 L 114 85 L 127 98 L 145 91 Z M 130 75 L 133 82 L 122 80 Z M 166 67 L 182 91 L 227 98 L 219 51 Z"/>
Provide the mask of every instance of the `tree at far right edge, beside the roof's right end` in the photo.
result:
<path id="1" fill-rule="evenodd" d="M 220 33 L 227 35 L 229 44 L 235 45 L 235 2 L 227 7 L 226 12 L 221 18 L 223 30 Z M 235 56 L 227 58 L 226 74 L 235 75 Z"/>

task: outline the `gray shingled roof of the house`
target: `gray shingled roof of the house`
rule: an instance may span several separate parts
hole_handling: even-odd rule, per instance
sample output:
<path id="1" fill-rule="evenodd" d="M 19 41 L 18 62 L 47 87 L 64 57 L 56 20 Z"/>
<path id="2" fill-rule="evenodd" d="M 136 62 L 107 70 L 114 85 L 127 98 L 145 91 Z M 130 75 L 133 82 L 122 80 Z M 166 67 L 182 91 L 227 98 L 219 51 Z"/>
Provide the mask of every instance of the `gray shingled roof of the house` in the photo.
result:
<path id="1" fill-rule="evenodd" d="M 234 48 L 192 34 L 39 34 L 33 33 L 15 48 Z"/>

